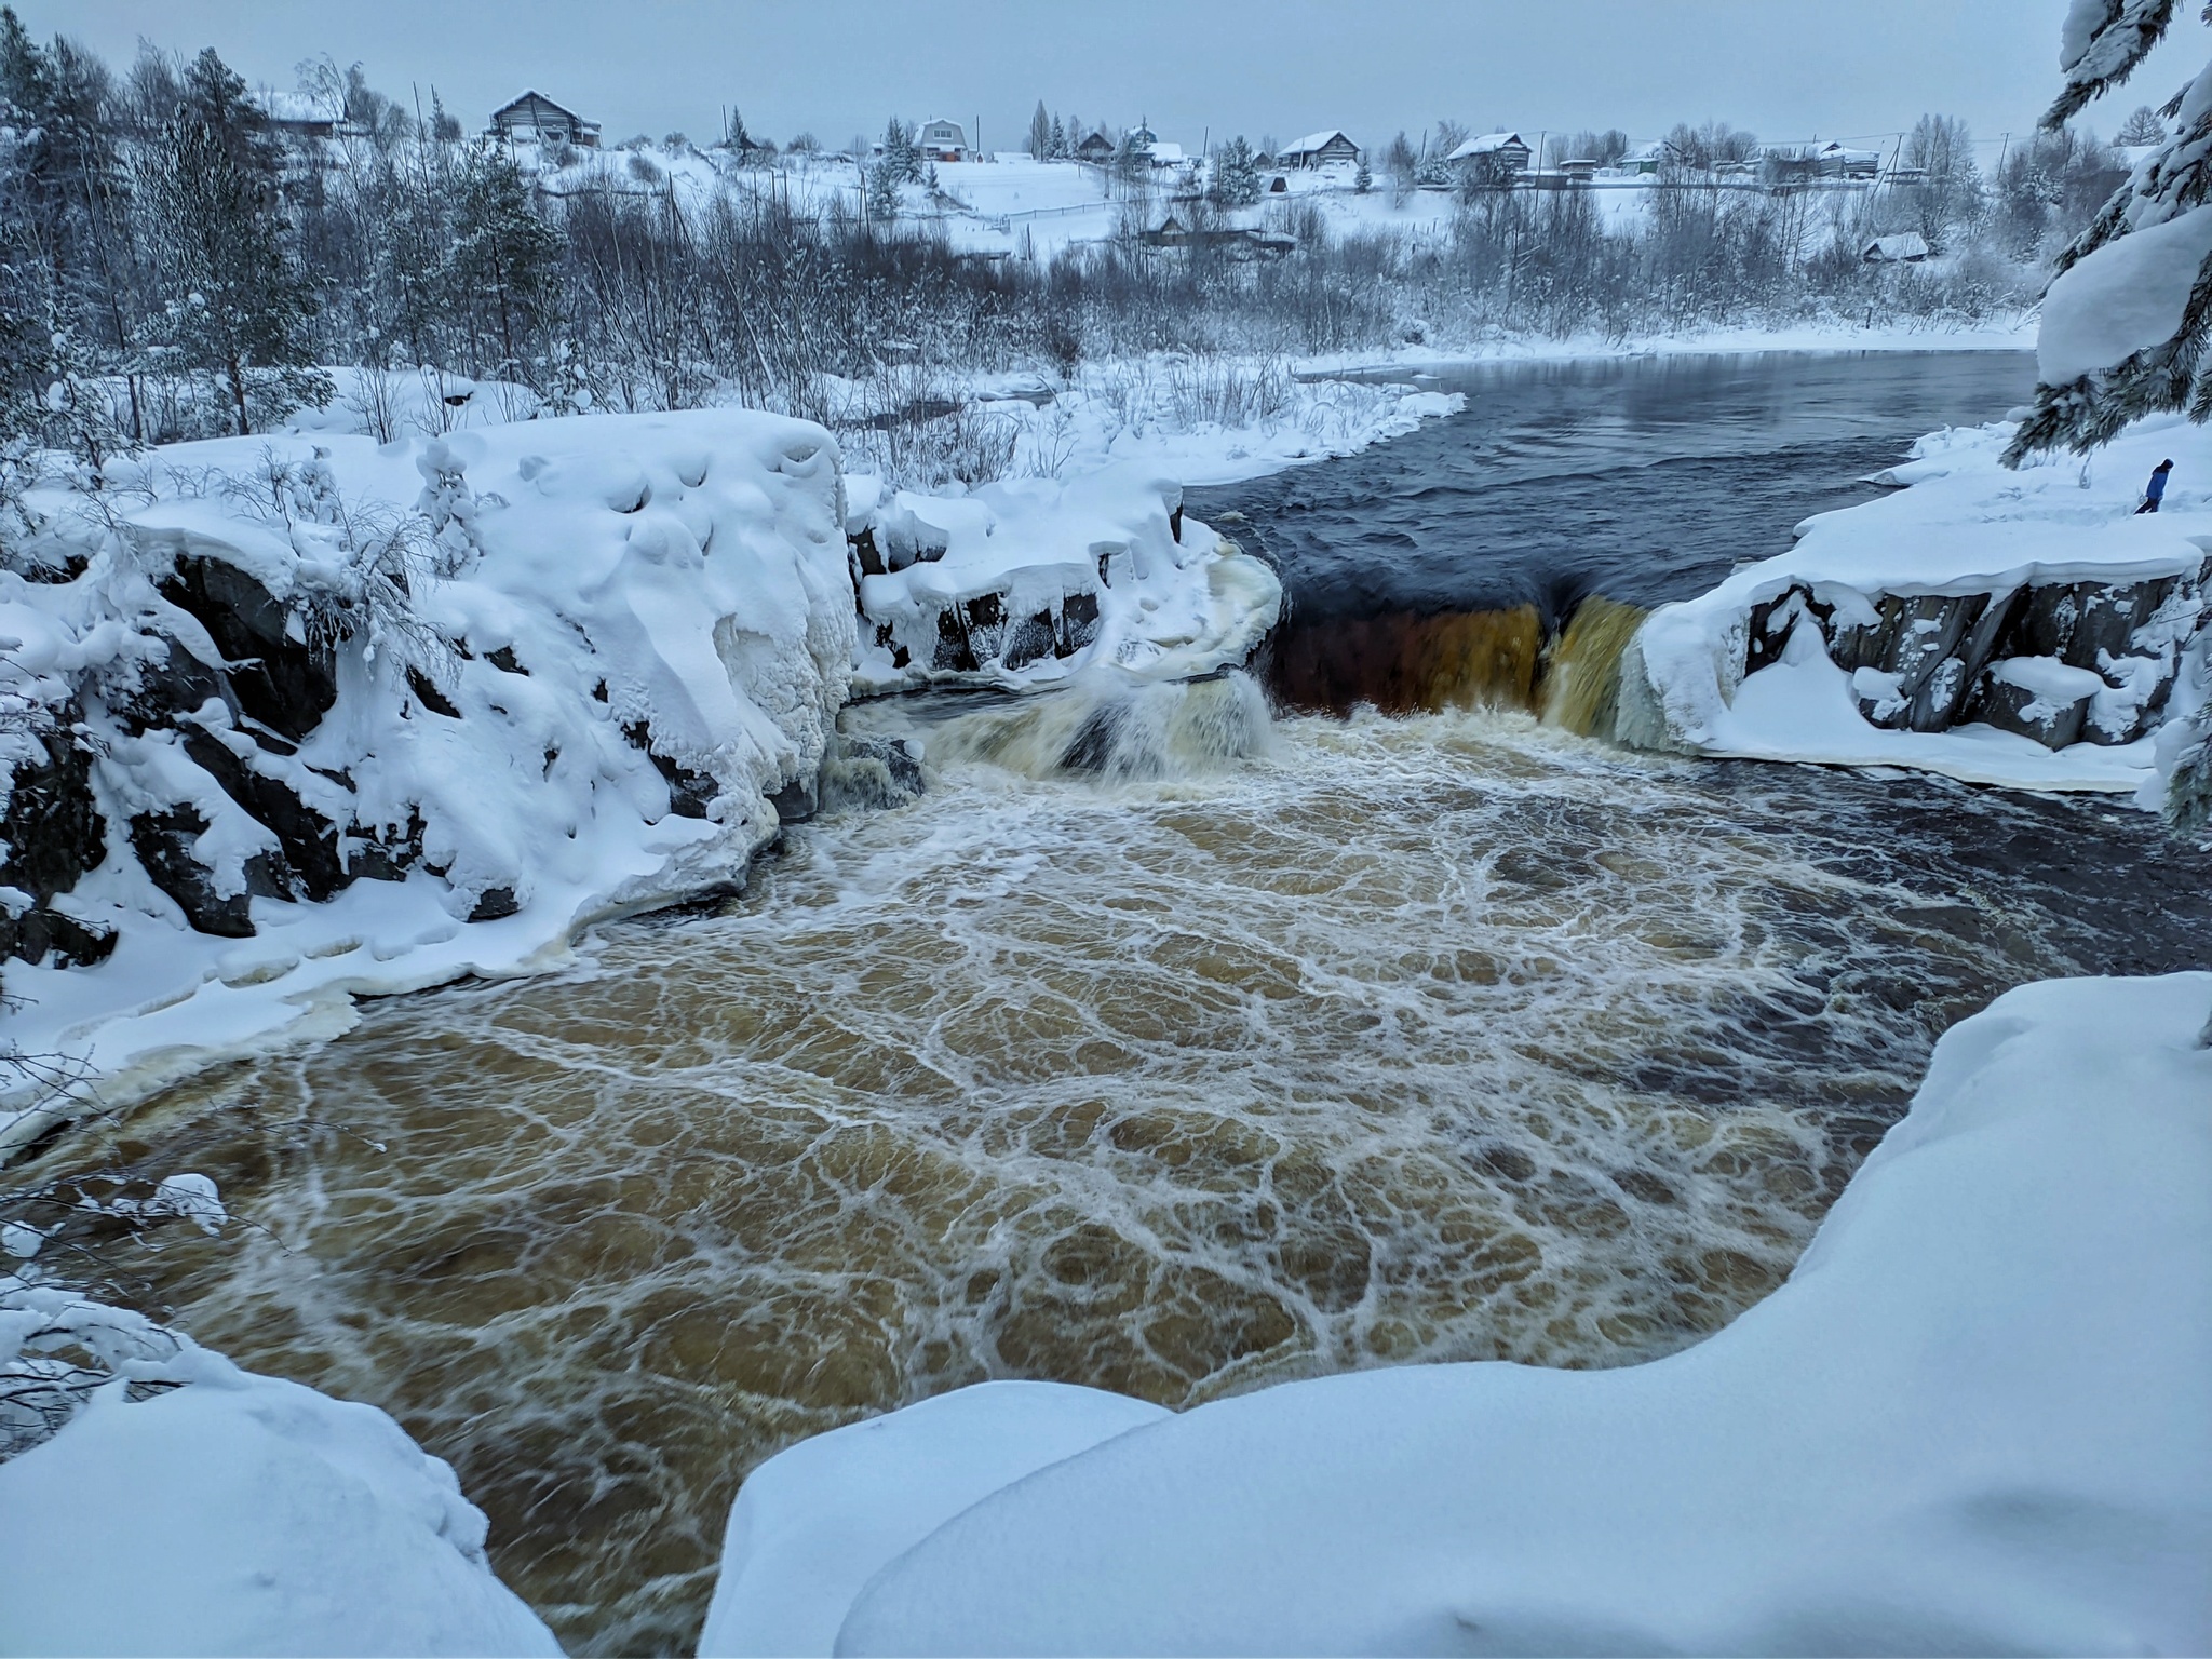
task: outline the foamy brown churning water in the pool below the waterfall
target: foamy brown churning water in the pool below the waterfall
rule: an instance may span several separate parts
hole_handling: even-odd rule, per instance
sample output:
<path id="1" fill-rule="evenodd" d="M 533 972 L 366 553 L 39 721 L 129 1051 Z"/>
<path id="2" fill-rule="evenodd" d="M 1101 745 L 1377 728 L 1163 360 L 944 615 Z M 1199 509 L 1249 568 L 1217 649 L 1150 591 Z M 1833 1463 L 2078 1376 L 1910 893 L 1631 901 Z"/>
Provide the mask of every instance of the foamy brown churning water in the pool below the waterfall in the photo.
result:
<path id="1" fill-rule="evenodd" d="M 1942 372 L 1874 361 L 1860 407 Z M 1776 476 L 1728 431 L 1708 489 Z M 1849 482 L 1792 453 L 1781 535 Z M 847 726 L 918 737 L 927 794 L 557 978 L 173 1091 L 97 1155 L 254 1223 L 115 1241 L 115 1285 L 394 1411 L 584 1650 L 688 1650 L 745 1469 L 984 1376 L 1190 1405 L 1677 1349 L 1787 1276 L 1947 1024 L 2212 938 L 2212 858 L 2148 814 L 1639 757 L 1524 708 L 1270 714 L 1230 675 Z"/>

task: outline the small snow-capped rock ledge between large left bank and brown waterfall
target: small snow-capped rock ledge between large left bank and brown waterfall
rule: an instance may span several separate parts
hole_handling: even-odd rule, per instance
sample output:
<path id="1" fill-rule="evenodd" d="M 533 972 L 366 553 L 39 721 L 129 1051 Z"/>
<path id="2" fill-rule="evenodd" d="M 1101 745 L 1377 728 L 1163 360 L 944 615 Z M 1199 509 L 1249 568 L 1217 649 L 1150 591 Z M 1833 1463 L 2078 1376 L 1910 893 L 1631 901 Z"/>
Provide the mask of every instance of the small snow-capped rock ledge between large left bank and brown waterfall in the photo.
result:
<path id="1" fill-rule="evenodd" d="M 854 686 L 1011 690 L 1093 666 L 1188 679 L 1241 664 L 1283 608 L 1272 568 L 1181 511 L 1181 484 L 1108 467 L 1071 484 L 878 500 L 856 480 L 860 562 Z"/>

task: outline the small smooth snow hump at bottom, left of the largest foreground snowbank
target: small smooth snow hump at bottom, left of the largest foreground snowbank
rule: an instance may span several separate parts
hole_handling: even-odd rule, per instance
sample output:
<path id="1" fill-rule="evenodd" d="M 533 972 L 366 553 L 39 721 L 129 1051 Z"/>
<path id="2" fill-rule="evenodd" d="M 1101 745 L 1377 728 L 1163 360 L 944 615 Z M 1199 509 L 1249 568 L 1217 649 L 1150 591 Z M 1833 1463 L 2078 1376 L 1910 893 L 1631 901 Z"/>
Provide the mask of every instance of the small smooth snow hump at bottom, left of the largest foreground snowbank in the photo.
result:
<path id="1" fill-rule="evenodd" d="M 1166 1416 L 1068 1383 L 978 1383 L 801 1440 L 737 1493 L 701 1659 L 827 1655 L 885 1562 L 978 1498 Z"/>

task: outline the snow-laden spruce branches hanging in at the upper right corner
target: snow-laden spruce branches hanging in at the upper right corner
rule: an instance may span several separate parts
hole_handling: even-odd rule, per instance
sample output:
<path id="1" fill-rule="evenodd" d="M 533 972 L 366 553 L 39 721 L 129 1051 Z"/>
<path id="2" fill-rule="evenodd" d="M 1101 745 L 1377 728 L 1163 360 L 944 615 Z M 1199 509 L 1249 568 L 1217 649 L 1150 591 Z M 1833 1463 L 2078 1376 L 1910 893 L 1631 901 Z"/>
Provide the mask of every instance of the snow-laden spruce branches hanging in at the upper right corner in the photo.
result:
<path id="1" fill-rule="evenodd" d="M 2172 15 L 2174 0 L 2073 0 L 2059 42 L 2066 84 L 2044 128 L 2055 133 L 2128 80 Z M 2086 453 L 2148 414 L 2212 418 L 2212 69 L 2163 115 L 2170 137 L 2057 257 L 2039 385 L 2004 451 L 2011 467 L 2046 449 Z"/>

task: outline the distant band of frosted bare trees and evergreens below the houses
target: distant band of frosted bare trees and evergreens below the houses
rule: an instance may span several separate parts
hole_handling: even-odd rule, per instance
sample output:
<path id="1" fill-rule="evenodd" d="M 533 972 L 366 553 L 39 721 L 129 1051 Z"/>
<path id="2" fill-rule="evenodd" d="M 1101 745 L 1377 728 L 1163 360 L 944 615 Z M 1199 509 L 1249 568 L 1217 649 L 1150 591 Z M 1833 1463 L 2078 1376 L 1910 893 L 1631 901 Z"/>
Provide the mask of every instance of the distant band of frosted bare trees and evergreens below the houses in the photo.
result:
<path id="1" fill-rule="evenodd" d="M 294 137 L 212 51 L 146 49 L 117 73 L 0 9 L 7 436 L 97 460 L 115 442 L 265 429 L 332 396 L 316 365 L 511 380 L 553 411 L 743 400 L 843 422 L 852 380 L 889 361 L 1068 372 L 1148 349 L 1973 321 L 2031 303 L 2124 179 L 2110 146 L 2073 131 L 2011 146 L 1984 177 L 1964 128 L 1927 117 L 1911 184 L 1774 192 L 1725 177 L 1747 135 L 1708 126 L 1681 128 L 1670 188 L 1619 228 L 1588 190 L 1473 179 L 1427 234 L 1332 234 L 1292 197 L 1263 208 L 1279 234 L 1261 257 L 1239 237 L 1148 246 L 1168 204 L 1139 188 L 1121 237 L 978 259 L 876 190 L 863 210 L 812 188 L 812 144 L 765 164 L 723 148 L 703 199 L 641 148 L 555 195 L 436 100 L 403 108 L 358 66 L 325 66 L 321 97 L 343 108 L 338 135 Z M 1400 148 L 1383 188 L 1409 192 L 1420 159 Z M 1217 197 L 1223 177 L 1248 195 L 1243 175 L 1219 170 Z M 1234 208 L 1175 204 L 1190 232 Z M 1907 230 L 1931 259 L 1863 257 Z"/>

